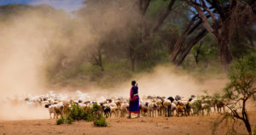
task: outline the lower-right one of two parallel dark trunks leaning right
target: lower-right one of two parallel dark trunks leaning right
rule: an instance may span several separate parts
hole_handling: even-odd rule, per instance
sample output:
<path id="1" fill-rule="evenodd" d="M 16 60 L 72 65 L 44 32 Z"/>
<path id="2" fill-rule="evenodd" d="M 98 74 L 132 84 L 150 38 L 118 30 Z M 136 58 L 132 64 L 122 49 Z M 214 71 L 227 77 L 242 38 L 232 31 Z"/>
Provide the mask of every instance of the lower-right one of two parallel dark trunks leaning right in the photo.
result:
<path id="1" fill-rule="evenodd" d="M 191 42 L 189 42 L 189 45 L 187 48 L 185 48 L 185 50 L 183 51 L 183 53 L 179 56 L 179 58 L 176 61 L 176 65 L 181 65 L 183 63 L 183 60 L 186 58 L 186 56 L 188 55 L 189 51 L 191 48 L 193 48 L 195 46 L 195 44 L 197 42 L 199 42 L 203 37 L 205 37 L 207 35 L 207 30 L 203 30 L 201 31 Z"/>

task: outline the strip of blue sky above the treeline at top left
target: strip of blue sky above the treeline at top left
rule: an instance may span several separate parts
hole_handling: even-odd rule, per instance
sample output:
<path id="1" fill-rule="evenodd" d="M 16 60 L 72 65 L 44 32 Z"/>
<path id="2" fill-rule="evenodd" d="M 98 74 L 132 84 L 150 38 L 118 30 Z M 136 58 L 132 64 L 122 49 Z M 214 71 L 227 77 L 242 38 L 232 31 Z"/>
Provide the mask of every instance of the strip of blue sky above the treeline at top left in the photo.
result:
<path id="1" fill-rule="evenodd" d="M 83 7 L 84 0 L 0 0 L 0 5 L 4 4 L 48 4 L 54 8 L 62 8 L 65 9 L 67 12 L 71 12 L 73 10 L 79 9 Z"/>

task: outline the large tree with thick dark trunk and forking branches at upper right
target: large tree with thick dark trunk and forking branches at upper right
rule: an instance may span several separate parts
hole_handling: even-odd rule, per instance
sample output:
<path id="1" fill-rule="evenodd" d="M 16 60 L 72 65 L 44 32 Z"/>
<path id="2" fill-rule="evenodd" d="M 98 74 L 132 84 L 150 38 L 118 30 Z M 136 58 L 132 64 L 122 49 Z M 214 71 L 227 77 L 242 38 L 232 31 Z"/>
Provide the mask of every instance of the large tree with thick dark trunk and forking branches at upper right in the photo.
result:
<path id="1" fill-rule="evenodd" d="M 254 20 L 253 1 L 242 0 L 184 0 L 195 8 L 202 25 L 218 42 L 218 53 L 224 67 L 232 61 L 230 38 L 237 25 L 248 25 Z M 207 15 L 211 20 L 207 19 Z"/>

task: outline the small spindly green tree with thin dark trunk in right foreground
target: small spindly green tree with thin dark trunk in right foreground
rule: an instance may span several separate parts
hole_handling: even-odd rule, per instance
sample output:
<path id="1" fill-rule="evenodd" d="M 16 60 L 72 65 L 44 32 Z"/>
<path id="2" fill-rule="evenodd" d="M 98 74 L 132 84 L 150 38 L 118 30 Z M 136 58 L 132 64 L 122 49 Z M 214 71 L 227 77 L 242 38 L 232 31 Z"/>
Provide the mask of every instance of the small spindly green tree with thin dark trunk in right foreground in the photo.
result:
<path id="1" fill-rule="evenodd" d="M 225 119 L 232 118 L 234 122 L 241 120 L 249 135 L 252 135 L 252 128 L 247 115 L 246 104 L 252 98 L 256 99 L 256 59 L 247 57 L 239 59 L 230 66 L 230 82 L 224 88 L 224 103 L 230 112 L 225 112 L 223 118 L 215 123 L 212 134 L 216 131 L 218 125 Z M 231 132 L 234 132 L 233 127 Z"/>

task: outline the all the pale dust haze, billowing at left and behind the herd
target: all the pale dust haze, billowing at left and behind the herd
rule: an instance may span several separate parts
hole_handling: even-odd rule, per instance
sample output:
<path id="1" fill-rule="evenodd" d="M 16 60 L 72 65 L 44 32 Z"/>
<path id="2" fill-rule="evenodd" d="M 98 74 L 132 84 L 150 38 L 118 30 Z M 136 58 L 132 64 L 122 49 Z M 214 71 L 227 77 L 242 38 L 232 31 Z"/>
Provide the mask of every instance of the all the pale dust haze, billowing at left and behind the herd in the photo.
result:
<path id="1" fill-rule="evenodd" d="M 137 12 L 135 9 L 131 11 Z M 63 11 L 44 14 L 44 10 L 40 9 L 27 10 L 18 16 L 10 16 L 8 21 L 0 21 L 0 98 L 15 99 L 15 96 L 18 96 L 21 98 L 20 101 L 23 101 L 29 93 L 32 95 L 49 93 L 51 86 L 47 82 L 45 70 L 51 66 L 49 64 L 65 66 L 73 59 L 81 59 L 79 50 L 90 47 L 87 48 L 90 53 L 97 46 L 96 42 L 101 42 L 104 34 L 113 28 L 122 29 L 125 25 L 132 24 L 131 18 L 138 19 L 137 14 L 125 16 L 114 9 L 103 16 L 101 13 L 94 13 L 101 17 L 91 20 L 104 21 L 108 25 L 103 30 L 96 30 L 95 25 L 90 25 L 90 21 L 81 23 L 80 20 L 72 19 L 71 16 L 61 12 Z M 119 23 L 119 20 L 123 22 Z M 65 59 L 62 59 L 61 63 L 57 62 L 59 54 L 65 54 Z M 141 96 L 166 97 L 175 95 L 189 97 L 191 94 L 200 94 L 206 89 L 217 91 L 224 87 L 226 82 L 225 78 L 222 80 L 211 78 L 202 83 L 185 73 L 176 72 L 176 69 L 163 65 L 156 67 L 151 73 L 142 73 L 132 79 L 138 82 Z M 91 85 L 86 89 L 81 87 L 79 90 L 90 94 L 93 97 L 91 99 L 102 95 L 127 98 L 130 88 L 131 82 L 124 82 L 110 89 Z M 53 90 L 57 93 L 72 94 L 78 88 L 60 87 Z M 1 102 L 4 101 L 6 100 Z M 30 108 L 23 103 L 7 102 L 4 102 L 0 108 L 0 120 L 38 118 L 49 118 L 48 110 L 41 107 Z"/>

